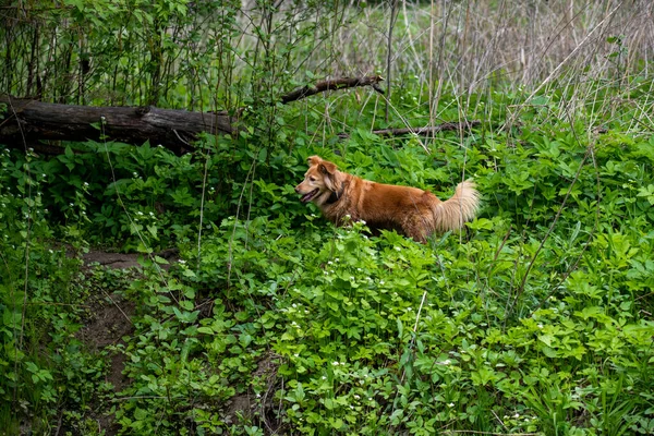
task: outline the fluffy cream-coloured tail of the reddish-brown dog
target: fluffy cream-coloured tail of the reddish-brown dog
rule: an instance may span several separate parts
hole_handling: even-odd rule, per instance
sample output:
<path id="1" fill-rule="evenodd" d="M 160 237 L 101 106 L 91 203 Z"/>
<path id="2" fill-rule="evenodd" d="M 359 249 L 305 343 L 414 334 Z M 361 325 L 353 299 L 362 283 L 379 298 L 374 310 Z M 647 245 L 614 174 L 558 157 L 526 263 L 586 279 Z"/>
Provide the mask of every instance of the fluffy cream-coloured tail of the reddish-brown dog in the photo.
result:
<path id="1" fill-rule="evenodd" d="M 480 208 L 480 193 L 474 187 L 472 180 L 461 182 L 451 198 L 434 207 L 434 230 L 458 230 L 465 221 L 474 219 Z"/>

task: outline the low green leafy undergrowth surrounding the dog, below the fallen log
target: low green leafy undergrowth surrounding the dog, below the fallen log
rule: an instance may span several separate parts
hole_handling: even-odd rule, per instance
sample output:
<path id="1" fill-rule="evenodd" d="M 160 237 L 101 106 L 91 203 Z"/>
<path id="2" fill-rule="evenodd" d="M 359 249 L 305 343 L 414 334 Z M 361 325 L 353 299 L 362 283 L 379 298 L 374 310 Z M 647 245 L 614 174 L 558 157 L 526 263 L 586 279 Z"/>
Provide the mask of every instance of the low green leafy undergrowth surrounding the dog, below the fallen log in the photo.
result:
<path id="1" fill-rule="evenodd" d="M 462 141 L 356 130 L 320 147 L 295 132 L 295 149 L 207 140 L 181 158 L 4 153 L 3 427 L 652 433 L 654 140 L 545 112 Z M 464 170 L 484 207 L 424 245 L 335 229 L 293 191 L 316 153 L 444 198 Z M 109 161 L 117 180 L 102 180 Z M 73 255 L 119 241 L 144 253 L 141 272 Z M 165 270 L 152 253 L 169 244 L 181 261 Z M 116 328 L 93 320 L 101 307 Z M 92 325 L 113 337 L 89 344 Z"/>

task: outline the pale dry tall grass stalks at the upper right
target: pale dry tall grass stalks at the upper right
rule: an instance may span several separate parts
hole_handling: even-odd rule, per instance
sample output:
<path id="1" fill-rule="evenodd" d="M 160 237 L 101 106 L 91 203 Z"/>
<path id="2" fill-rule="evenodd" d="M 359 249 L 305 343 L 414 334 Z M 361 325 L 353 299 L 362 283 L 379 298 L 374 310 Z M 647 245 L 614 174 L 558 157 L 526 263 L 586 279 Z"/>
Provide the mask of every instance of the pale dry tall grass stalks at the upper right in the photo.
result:
<path id="1" fill-rule="evenodd" d="M 393 65 L 397 77 L 433 77 L 461 92 L 488 82 L 535 87 L 562 66 L 590 78 L 640 72 L 652 59 L 653 13 L 647 1 L 402 2 Z M 338 73 L 384 65 L 388 8 L 358 14 L 340 28 Z"/>

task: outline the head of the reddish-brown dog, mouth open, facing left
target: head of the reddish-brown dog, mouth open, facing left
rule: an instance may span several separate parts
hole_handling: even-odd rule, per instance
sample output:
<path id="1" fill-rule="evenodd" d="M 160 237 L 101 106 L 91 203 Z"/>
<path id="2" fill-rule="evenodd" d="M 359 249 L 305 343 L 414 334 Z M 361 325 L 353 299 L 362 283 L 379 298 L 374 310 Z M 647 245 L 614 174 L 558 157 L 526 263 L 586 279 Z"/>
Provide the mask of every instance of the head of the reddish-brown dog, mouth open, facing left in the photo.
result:
<path id="1" fill-rule="evenodd" d="M 302 195 L 300 201 L 323 205 L 332 193 L 338 193 L 338 169 L 332 162 L 323 160 L 318 156 L 310 157 L 308 170 L 304 174 L 304 180 L 295 186 L 295 192 Z"/>

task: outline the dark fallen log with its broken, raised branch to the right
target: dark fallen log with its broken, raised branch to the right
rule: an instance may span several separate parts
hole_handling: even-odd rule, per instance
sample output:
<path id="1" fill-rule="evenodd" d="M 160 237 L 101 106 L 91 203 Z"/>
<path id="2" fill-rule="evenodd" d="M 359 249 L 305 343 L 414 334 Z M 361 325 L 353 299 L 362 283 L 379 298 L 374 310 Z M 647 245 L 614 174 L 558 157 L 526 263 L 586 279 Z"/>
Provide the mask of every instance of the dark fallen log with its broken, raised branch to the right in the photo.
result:
<path id="1" fill-rule="evenodd" d="M 373 86 L 378 75 L 322 81 L 281 97 L 288 104 L 322 92 L 355 86 Z M 193 150 L 192 143 L 202 132 L 234 134 L 238 118 L 227 112 L 190 112 L 155 107 L 90 107 L 58 105 L 32 99 L 0 96 L 0 145 L 33 147 L 38 153 L 59 154 L 57 142 L 114 140 L 128 144 L 162 145 L 181 155 Z M 48 141 L 48 144 L 41 143 Z"/>

